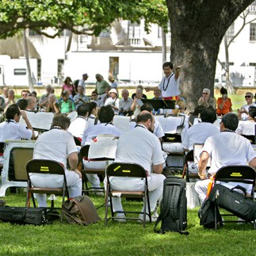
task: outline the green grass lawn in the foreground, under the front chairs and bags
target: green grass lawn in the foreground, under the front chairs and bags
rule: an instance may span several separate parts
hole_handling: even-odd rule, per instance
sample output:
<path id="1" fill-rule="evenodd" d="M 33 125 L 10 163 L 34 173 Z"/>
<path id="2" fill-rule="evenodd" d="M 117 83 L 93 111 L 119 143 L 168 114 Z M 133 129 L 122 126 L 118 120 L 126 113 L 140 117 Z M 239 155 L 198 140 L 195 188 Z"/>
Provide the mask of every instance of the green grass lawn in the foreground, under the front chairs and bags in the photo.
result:
<path id="1" fill-rule="evenodd" d="M 90 197 L 96 207 L 103 197 Z M 24 206 L 25 193 L 7 193 L 6 204 Z M 59 200 L 58 200 L 59 202 Z M 141 203 L 124 201 L 124 208 L 141 208 Z M 98 214 L 101 221 L 90 226 L 54 224 L 45 226 L 0 223 L 1 255 L 255 255 L 256 231 L 250 224 L 226 224 L 218 231 L 199 225 L 197 210 L 188 210 L 189 235 L 168 232 L 155 234 L 154 224 L 109 220 L 104 225 L 105 209 Z"/>

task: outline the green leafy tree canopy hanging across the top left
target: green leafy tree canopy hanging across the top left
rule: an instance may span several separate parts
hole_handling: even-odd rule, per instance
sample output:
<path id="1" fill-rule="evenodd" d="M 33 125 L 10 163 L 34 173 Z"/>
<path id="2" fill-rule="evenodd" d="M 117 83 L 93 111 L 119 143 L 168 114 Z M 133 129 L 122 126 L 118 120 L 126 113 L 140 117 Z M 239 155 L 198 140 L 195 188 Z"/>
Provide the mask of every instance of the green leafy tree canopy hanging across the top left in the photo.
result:
<path id="1" fill-rule="evenodd" d="M 19 29 L 52 27 L 58 36 L 63 29 L 75 33 L 98 35 L 116 19 L 139 22 L 145 18 L 145 29 L 151 23 L 166 29 L 168 22 L 163 0 L 2 0 L 0 3 L 0 38 L 13 36 Z M 78 26 L 80 26 L 78 28 Z M 82 29 L 81 29 L 82 28 Z"/>

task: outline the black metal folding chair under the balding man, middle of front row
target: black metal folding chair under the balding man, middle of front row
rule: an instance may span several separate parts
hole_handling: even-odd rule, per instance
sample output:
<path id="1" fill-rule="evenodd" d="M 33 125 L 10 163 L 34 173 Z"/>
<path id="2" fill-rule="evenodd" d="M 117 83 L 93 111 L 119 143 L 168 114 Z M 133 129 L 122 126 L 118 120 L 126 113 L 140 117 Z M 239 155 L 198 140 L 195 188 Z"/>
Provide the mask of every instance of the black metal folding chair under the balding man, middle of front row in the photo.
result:
<path id="1" fill-rule="evenodd" d="M 121 189 L 118 190 L 112 190 L 111 189 L 111 181 L 110 178 L 117 178 L 117 177 L 130 177 L 130 178 L 142 178 L 145 181 L 144 189 L 143 191 L 123 191 Z M 145 227 L 146 224 L 146 215 L 149 216 L 149 220 L 151 222 L 151 208 L 150 208 L 150 202 L 148 197 L 148 184 L 147 184 L 147 171 L 143 168 L 143 166 L 140 166 L 136 163 L 124 163 L 124 162 L 113 162 L 110 164 L 106 170 L 106 178 L 107 178 L 107 184 L 106 184 L 106 194 L 105 194 L 105 225 L 107 225 L 108 220 L 140 220 L 143 222 L 143 227 Z M 143 204 L 144 204 L 144 210 L 143 212 L 138 211 L 113 211 L 113 202 L 112 197 L 139 197 L 143 198 Z M 111 217 L 108 217 L 108 201 L 110 202 L 110 209 L 111 209 Z M 147 207 L 146 207 L 147 204 Z M 147 213 L 147 211 L 148 213 Z M 142 214 L 143 213 L 143 220 L 139 218 L 133 218 L 133 217 L 125 217 L 125 218 L 118 218 L 115 217 L 116 213 L 132 213 L 132 214 Z"/>

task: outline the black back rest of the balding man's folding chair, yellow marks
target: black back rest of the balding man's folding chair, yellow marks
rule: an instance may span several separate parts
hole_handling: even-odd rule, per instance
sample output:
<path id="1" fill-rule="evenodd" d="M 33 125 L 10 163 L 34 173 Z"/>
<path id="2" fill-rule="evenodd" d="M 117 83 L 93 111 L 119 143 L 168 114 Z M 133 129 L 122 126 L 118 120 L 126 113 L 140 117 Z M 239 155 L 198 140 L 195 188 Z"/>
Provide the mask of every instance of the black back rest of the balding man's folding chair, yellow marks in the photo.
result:
<path id="1" fill-rule="evenodd" d="M 106 175 L 111 177 L 133 177 L 133 178 L 146 178 L 147 171 L 137 163 L 124 163 L 124 162 L 113 162 L 107 170 Z"/>

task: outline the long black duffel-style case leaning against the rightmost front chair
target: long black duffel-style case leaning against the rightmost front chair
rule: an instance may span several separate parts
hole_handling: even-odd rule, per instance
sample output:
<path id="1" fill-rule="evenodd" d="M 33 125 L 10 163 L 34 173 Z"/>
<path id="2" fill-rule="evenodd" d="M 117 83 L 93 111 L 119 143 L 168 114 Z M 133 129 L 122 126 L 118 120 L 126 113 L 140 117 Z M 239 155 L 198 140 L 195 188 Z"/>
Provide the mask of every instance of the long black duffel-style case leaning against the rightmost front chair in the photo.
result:
<path id="1" fill-rule="evenodd" d="M 240 189 L 243 193 L 239 193 L 235 189 Z M 246 189 L 241 185 L 228 189 L 224 185 L 216 184 L 208 198 L 209 201 L 243 220 L 256 220 L 256 202 L 246 197 Z"/>

